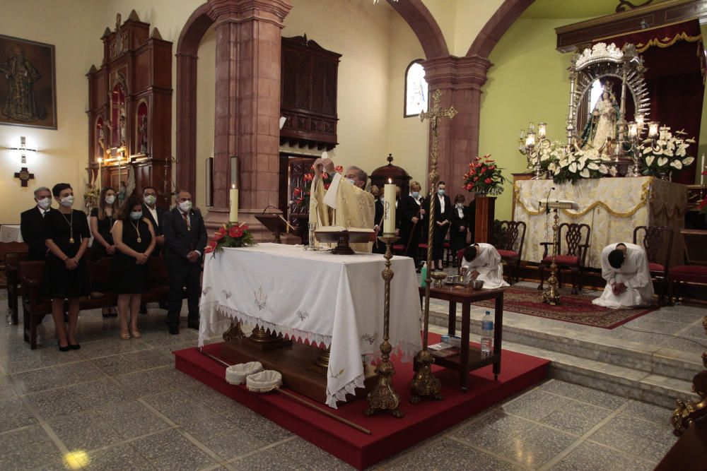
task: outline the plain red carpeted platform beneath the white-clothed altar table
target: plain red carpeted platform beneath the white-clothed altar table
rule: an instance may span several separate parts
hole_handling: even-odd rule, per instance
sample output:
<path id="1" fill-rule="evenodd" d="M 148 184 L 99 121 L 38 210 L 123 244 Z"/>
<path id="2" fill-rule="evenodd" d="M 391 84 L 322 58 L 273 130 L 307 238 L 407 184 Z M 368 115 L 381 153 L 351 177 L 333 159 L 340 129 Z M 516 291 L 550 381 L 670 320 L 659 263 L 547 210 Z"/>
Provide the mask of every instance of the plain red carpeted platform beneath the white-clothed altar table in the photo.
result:
<path id="1" fill-rule="evenodd" d="M 438 335 L 430 334 L 430 338 L 431 342 L 439 341 Z M 204 350 L 218 356 L 220 344 L 207 345 Z M 549 365 L 547 360 L 504 350 L 498 381 L 493 381 L 491 366 L 472 371 L 469 376 L 469 392 L 466 394 L 459 389 L 459 374 L 436 367 L 436 376 L 443 385 L 444 400 L 425 400 L 418 405 L 411 405 L 407 386 L 412 378 L 412 366 L 396 360 L 393 384 L 402 400 L 400 409 L 405 414 L 404 418 L 395 419 L 390 413 L 383 412 L 366 417 L 363 415 L 368 405 L 365 399 L 340 405 L 338 410 L 330 410 L 373 432 L 367 435 L 284 395 L 255 394 L 250 393 L 245 386 L 231 386 L 224 378 L 225 367 L 200 354 L 196 348 L 179 350 L 175 352 L 175 357 L 175 366 L 180 371 L 250 407 L 359 470 L 395 455 L 542 381 Z M 326 405 L 322 407 L 327 408 Z"/>

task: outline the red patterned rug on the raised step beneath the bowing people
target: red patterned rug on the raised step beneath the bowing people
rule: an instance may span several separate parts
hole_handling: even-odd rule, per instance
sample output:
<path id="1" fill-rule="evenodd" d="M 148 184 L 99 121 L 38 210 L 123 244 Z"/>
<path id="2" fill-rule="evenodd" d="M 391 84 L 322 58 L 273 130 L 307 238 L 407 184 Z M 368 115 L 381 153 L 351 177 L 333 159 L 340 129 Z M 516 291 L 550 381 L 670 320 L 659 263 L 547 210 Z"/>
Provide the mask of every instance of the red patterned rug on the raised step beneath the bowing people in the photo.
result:
<path id="1" fill-rule="evenodd" d="M 658 306 L 648 309 L 609 309 L 592 304 L 592 299 L 595 297 L 588 294 L 570 294 L 570 290 L 565 288 L 560 292 L 560 304 L 550 306 L 542 302 L 542 291 L 530 287 L 511 287 L 506 290 L 506 294 L 503 296 L 503 309 L 529 316 L 605 329 L 616 328 L 658 309 Z M 493 300 L 473 304 L 493 308 Z"/>

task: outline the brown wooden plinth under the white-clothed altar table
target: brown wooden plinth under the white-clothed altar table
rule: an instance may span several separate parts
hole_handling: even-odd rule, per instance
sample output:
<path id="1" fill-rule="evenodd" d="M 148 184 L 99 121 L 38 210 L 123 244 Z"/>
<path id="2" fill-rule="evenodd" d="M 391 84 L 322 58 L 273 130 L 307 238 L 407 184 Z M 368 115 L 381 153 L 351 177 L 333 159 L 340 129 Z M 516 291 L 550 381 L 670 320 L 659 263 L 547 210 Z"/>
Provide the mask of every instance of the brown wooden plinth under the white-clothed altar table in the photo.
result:
<path id="1" fill-rule="evenodd" d="M 317 365 L 319 347 L 300 342 L 290 342 L 289 345 L 272 350 L 263 350 L 260 345 L 247 338 L 223 342 L 218 356 L 227 362 L 247 363 L 260 362 L 264 369 L 274 369 L 282 374 L 283 385 L 300 393 L 317 403 L 325 404 L 327 400 L 327 370 Z M 365 389 L 356 389 L 355 399 L 365 398 L 375 386 L 375 372 L 367 365 Z M 354 400 L 349 395 L 347 400 Z"/>

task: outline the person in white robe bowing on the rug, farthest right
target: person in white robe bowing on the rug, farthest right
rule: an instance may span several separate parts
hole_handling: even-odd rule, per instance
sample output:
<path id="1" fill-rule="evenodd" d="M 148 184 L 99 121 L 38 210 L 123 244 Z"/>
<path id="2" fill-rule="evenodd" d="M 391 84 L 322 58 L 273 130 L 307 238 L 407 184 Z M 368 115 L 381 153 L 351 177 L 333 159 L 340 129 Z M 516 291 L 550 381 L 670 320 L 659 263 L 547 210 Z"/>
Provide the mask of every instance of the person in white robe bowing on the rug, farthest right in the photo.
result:
<path id="1" fill-rule="evenodd" d="M 641 246 L 619 243 L 604 247 L 602 278 L 607 285 L 592 304 L 620 309 L 650 306 L 653 302 L 653 281 Z"/>

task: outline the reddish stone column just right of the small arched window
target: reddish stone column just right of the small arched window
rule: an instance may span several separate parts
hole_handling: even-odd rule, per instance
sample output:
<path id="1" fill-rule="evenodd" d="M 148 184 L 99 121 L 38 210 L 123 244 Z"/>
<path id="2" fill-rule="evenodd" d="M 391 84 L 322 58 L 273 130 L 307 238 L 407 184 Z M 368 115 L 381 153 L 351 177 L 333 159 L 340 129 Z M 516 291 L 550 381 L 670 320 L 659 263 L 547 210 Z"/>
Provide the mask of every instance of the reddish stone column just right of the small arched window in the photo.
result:
<path id="1" fill-rule="evenodd" d="M 450 198 L 454 198 L 469 161 L 479 152 L 481 85 L 486 82 L 491 62 L 479 56 L 446 56 L 424 61 L 423 66 L 430 95 L 439 89 L 440 105 L 453 105 L 458 112 L 454 119 L 440 119 L 438 124 L 438 172 L 440 180 L 447 184 Z"/>

